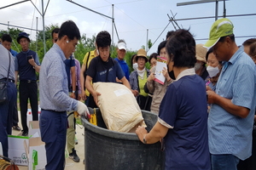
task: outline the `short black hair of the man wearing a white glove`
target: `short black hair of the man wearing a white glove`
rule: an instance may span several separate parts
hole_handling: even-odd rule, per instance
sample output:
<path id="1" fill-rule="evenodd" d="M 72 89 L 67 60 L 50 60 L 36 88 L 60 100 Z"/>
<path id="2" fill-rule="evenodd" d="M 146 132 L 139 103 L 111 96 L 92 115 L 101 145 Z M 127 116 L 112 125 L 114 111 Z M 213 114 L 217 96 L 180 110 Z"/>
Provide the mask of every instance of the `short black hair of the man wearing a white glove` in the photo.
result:
<path id="1" fill-rule="evenodd" d="M 73 40 L 75 37 L 79 40 L 81 38 L 78 26 L 73 22 L 73 20 L 67 20 L 61 25 L 58 38 L 67 36 L 68 39 Z"/>

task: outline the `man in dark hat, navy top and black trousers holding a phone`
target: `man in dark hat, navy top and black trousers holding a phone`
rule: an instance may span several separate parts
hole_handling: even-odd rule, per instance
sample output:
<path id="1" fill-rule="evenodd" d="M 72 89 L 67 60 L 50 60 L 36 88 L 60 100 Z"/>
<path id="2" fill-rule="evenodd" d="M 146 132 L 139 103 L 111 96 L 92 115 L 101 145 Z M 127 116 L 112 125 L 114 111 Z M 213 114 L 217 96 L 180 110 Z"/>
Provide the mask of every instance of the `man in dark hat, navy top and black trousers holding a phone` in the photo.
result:
<path id="1" fill-rule="evenodd" d="M 30 39 L 26 32 L 20 32 L 17 42 L 20 43 L 21 52 L 15 58 L 15 83 L 18 75 L 20 79 L 20 116 L 22 136 L 28 133 L 26 125 L 27 99 L 30 100 L 32 120 L 38 121 L 38 84 L 36 71 L 40 70 L 38 54 L 29 49 Z"/>

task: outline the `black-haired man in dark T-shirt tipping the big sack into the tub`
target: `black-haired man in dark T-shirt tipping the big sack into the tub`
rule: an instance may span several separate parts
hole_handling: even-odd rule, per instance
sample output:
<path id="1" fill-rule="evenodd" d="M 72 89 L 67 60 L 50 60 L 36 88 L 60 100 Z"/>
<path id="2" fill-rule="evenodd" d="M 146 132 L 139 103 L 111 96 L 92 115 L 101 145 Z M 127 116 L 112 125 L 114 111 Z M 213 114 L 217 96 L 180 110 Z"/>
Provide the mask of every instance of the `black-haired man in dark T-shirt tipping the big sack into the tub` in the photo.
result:
<path id="1" fill-rule="evenodd" d="M 86 72 L 85 88 L 90 92 L 89 107 L 96 108 L 98 105 L 98 95 L 90 82 L 116 82 L 116 77 L 127 87 L 130 84 L 125 78 L 124 71 L 115 59 L 110 57 L 111 37 L 108 31 L 100 31 L 96 36 L 96 46 L 99 55 L 91 59 L 89 68 Z M 91 98 L 93 96 L 93 99 Z"/>

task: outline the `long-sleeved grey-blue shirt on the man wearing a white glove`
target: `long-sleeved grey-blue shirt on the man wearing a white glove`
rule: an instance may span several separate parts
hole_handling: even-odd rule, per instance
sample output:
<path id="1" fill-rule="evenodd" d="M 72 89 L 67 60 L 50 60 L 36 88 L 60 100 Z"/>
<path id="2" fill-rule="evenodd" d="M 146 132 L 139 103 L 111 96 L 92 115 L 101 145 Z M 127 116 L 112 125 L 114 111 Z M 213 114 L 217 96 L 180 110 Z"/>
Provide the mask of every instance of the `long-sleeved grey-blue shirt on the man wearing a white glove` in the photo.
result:
<path id="1" fill-rule="evenodd" d="M 68 96 L 66 57 L 55 43 L 44 55 L 40 68 L 40 107 L 53 111 L 77 111 L 78 101 Z"/>

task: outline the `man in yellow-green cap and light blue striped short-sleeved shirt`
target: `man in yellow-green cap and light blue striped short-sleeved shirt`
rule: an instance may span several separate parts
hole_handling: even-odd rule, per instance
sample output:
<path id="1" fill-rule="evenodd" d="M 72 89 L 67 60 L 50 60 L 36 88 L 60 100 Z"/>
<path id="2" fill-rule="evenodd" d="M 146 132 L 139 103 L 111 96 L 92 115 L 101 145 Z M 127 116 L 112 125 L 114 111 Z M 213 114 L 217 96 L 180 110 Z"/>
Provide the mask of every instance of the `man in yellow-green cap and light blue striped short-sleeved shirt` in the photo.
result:
<path id="1" fill-rule="evenodd" d="M 207 87 L 212 170 L 236 169 L 239 160 L 252 154 L 255 65 L 243 47 L 237 47 L 233 27 L 228 19 L 216 20 L 205 44 L 223 61 L 215 92 Z"/>

